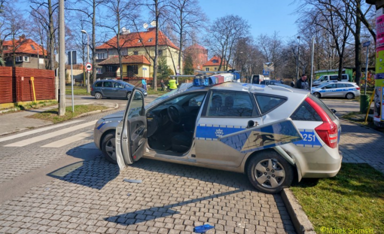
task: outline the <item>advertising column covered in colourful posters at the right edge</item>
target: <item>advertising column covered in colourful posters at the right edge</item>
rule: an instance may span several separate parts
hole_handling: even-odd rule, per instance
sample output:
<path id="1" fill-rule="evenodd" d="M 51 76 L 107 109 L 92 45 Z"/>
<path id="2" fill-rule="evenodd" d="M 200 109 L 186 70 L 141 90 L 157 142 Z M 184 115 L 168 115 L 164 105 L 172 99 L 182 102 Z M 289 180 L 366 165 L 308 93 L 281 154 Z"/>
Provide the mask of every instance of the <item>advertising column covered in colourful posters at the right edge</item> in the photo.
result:
<path id="1" fill-rule="evenodd" d="M 376 10 L 376 75 L 374 81 L 374 113 L 376 126 L 384 127 L 384 8 Z"/>

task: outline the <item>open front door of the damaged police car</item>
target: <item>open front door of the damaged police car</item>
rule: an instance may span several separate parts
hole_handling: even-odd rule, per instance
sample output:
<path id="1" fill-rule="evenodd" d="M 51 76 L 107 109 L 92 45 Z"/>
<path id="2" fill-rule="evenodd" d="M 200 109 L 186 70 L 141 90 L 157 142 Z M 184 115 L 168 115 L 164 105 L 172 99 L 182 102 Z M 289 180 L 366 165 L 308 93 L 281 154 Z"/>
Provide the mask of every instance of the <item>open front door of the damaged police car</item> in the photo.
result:
<path id="1" fill-rule="evenodd" d="M 120 170 L 140 159 L 144 154 L 145 146 L 144 95 L 141 91 L 133 88 L 124 111 L 124 117 L 116 128 L 116 157 Z"/>

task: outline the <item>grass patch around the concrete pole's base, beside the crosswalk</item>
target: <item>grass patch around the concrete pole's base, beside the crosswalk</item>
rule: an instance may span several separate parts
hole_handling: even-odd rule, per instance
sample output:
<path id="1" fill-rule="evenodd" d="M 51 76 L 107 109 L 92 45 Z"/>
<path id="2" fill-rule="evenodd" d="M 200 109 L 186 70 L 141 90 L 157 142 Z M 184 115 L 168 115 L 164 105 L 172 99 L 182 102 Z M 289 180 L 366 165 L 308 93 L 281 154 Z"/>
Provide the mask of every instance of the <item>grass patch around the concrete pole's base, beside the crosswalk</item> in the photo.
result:
<path id="1" fill-rule="evenodd" d="M 62 122 L 69 120 L 77 115 L 80 115 L 82 113 L 94 111 L 94 110 L 102 110 L 106 109 L 108 107 L 104 105 L 75 105 L 74 106 L 74 112 L 72 112 L 72 106 L 66 106 L 65 107 L 65 114 L 63 116 L 58 116 L 58 108 L 46 110 L 40 113 L 35 113 L 33 115 L 30 115 L 28 117 L 31 118 L 39 118 L 43 120 L 52 121 L 53 123 Z"/>

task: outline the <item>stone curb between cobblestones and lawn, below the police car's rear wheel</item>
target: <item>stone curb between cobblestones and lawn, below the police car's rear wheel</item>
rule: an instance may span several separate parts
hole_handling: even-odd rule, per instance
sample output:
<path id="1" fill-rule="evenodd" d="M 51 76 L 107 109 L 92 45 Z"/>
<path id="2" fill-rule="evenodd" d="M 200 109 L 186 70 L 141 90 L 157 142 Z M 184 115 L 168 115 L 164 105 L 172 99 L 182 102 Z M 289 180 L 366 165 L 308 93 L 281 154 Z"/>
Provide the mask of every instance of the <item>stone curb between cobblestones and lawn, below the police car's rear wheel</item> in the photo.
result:
<path id="1" fill-rule="evenodd" d="M 293 195 L 293 192 L 289 190 L 289 188 L 284 188 L 280 192 L 280 195 L 296 232 L 300 234 L 316 234 L 312 223 L 309 221 L 304 210 L 302 210 L 302 207 Z"/>

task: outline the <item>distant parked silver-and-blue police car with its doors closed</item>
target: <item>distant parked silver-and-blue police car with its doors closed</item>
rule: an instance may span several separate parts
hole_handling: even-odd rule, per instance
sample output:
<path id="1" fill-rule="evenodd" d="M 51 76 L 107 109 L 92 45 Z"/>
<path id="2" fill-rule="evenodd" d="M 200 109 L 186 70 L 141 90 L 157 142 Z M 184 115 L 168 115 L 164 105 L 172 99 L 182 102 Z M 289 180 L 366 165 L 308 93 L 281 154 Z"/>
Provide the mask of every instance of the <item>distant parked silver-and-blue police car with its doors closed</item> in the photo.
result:
<path id="1" fill-rule="evenodd" d="M 333 81 L 312 87 L 312 93 L 316 97 L 345 97 L 353 99 L 360 96 L 360 87 L 353 82 Z"/>

